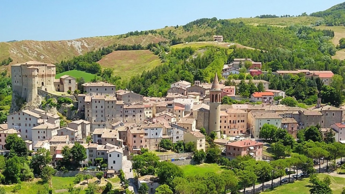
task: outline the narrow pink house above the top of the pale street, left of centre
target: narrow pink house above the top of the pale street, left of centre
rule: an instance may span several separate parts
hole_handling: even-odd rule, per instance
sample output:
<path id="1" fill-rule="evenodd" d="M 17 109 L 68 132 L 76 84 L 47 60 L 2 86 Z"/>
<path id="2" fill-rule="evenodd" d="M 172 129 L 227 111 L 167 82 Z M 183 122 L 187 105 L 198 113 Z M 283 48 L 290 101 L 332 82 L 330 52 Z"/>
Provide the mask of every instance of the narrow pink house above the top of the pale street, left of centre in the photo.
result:
<path id="1" fill-rule="evenodd" d="M 140 153 L 140 148 L 144 148 L 144 130 L 141 127 L 130 127 L 127 130 L 127 146 L 131 153 Z"/>

